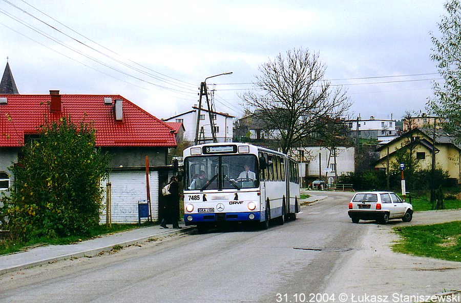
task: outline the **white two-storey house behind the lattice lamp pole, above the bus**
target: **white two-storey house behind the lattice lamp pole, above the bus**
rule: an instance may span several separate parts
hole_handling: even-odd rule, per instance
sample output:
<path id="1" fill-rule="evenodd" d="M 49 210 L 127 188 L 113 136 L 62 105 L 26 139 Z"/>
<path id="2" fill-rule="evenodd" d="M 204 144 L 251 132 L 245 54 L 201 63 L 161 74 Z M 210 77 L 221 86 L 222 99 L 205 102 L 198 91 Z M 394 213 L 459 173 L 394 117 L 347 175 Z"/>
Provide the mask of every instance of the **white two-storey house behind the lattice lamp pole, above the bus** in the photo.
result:
<path id="1" fill-rule="evenodd" d="M 185 129 L 184 143 L 193 144 L 195 141 L 195 134 L 197 128 L 197 114 L 198 107 L 192 107 L 192 110 L 163 119 L 165 122 L 182 123 Z M 211 125 L 209 123 L 208 110 L 200 109 L 199 119 L 199 143 L 213 142 L 211 133 Z M 215 126 L 215 134 L 218 142 L 232 142 L 233 141 L 233 118 L 235 116 L 228 113 L 211 112 L 213 123 Z"/>

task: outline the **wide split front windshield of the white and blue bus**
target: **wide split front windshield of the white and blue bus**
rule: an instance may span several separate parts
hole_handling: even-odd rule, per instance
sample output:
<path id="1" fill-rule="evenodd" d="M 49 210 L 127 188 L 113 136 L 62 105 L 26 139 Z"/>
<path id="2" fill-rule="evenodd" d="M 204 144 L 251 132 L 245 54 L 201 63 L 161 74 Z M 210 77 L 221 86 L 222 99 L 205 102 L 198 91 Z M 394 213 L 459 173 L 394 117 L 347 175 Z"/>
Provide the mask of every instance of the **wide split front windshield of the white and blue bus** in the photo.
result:
<path id="1" fill-rule="evenodd" d="M 221 190 L 259 187 L 255 155 L 210 155 L 184 160 L 185 189 Z"/>

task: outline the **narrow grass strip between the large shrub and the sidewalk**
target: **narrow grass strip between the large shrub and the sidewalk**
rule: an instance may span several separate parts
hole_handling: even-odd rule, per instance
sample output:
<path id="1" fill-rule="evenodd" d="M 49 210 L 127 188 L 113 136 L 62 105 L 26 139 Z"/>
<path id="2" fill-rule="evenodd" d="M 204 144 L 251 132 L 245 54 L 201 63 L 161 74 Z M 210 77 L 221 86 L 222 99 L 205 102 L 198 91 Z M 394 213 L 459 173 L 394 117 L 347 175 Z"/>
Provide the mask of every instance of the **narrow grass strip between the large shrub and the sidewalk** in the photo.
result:
<path id="1" fill-rule="evenodd" d="M 142 223 L 141 226 L 153 225 L 151 222 Z M 80 241 L 95 238 L 101 235 L 112 234 L 125 230 L 138 228 L 138 224 L 112 224 L 112 228 L 106 227 L 106 224 L 99 225 L 90 230 L 89 235 L 86 236 L 70 236 L 64 238 L 35 238 L 27 242 L 17 242 L 9 238 L 0 239 L 0 255 L 10 254 L 18 251 L 23 251 L 29 248 L 43 246 L 43 245 L 67 245 L 78 243 Z"/>

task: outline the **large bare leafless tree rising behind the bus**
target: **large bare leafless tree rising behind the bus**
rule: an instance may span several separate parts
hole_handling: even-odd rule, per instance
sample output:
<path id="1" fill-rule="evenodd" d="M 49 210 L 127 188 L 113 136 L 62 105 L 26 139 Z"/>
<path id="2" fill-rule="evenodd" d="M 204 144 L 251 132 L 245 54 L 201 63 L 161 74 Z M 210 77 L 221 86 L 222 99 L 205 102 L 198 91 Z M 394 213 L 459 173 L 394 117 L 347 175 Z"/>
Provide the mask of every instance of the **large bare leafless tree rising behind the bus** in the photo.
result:
<path id="1" fill-rule="evenodd" d="M 332 127 L 350 107 L 346 92 L 325 80 L 326 67 L 318 53 L 294 49 L 259 68 L 255 90 L 241 96 L 254 115 L 278 136 L 287 153 L 303 143 L 337 137 Z M 333 132 L 332 132 L 333 131 Z"/>

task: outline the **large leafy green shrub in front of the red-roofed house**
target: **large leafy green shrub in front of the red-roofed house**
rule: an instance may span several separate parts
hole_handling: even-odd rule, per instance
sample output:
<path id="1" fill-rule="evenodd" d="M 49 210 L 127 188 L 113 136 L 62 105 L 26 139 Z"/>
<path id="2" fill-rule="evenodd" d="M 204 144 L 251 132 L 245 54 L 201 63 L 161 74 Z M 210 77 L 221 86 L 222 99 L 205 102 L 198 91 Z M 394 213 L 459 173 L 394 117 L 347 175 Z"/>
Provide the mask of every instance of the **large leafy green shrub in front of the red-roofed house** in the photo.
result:
<path id="1" fill-rule="evenodd" d="M 20 240 L 87 234 L 98 225 L 108 155 L 96 149 L 91 125 L 77 127 L 70 117 L 38 131 L 11 168 L 15 180 L 3 198 L 5 228 Z"/>

